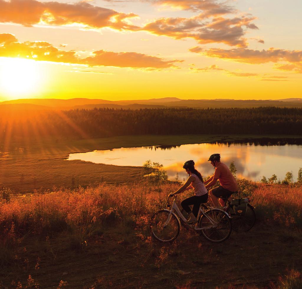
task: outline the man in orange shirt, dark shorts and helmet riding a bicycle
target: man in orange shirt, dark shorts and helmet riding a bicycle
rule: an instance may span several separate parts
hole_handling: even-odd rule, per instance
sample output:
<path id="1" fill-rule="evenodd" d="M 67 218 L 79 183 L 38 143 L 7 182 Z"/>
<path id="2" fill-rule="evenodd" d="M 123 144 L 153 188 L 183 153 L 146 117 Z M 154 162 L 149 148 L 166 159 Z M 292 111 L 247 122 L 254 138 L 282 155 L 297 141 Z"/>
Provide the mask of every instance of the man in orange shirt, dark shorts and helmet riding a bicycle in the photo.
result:
<path id="1" fill-rule="evenodd" d="M 220 203 L 220 205 L 224 207 L 225 201 L 220 198 L 228 199 L 238 190 L 236 179 L 230 169 L 220 161 L 220 154 L 212 154 L 208 161 L 211 161 L 211 165 L 215 168 L 215 173 L 204 182 L 205 187 L 212 187 L 216 181 L 219 180 L 220 186 L 210 190 L 209 193 L 214 206 L 218 207 Z"/>

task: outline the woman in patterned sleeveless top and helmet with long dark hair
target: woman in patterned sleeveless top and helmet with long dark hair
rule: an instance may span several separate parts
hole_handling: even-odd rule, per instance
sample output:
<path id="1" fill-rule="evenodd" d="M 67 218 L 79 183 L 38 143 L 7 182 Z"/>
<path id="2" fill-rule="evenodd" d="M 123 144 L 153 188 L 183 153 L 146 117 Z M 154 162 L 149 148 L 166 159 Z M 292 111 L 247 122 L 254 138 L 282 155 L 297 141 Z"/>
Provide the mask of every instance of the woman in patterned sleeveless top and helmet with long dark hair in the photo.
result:
<path id="1" fill-rule="evenodd" d="M 189 189 L 194 190 L 194 196 L 182 201 L 182 207 L 190 216 L 190 218 L 186 221 L 188 224 L 193 224 L 197 222 L 196 217 L 198 215 L 200 204 L 206 203 L 208 199 L 208 193 L 207 189 L 204 186 L 204 181 L 200 172 L 195 169 L 194 164 L 195 163 L 193 160 L 185 162 L 183 168 L 189 175 L 188 180 L 177 191 L 170 194 L 170 196 L 174 196 Z M 190 209 L 189 205 L 193 205 L 192 210 Z"/>

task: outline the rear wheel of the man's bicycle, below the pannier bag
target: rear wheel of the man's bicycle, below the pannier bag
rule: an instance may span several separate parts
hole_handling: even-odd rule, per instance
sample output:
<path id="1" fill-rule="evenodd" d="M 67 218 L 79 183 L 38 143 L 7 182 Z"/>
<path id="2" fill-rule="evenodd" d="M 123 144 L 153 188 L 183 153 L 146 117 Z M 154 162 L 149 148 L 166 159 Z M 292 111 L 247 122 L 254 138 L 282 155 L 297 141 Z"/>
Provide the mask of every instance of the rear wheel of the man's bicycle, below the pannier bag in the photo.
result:
<path id="1" fill-rule="evenodd" d="M 252 229 L 255 224 L 256 214 L 250 204 L 247 204 L 246 214 L 244 216 L 236 215 L 232 207 L 229 207 L 226 212 L 230 215 L 232 228 L 235 231 L 247 232 Z"/>

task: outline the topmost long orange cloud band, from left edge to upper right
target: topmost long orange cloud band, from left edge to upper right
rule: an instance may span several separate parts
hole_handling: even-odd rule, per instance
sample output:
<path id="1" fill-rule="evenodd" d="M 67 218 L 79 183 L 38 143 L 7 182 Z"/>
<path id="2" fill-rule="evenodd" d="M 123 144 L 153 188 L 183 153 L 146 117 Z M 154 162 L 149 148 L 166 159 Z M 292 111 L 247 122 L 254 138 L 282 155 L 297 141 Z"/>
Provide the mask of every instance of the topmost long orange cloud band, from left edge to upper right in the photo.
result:
<path id="1" fill-rule="evenodd" d="M 152 2 L 152 1 L 151 1 Z M 0 0 L 0 22 L 18 23 L 24 26 L 34 24 L 71 25 L 82 24 L 86 28 L 113 28 L 116 30 L 148 31 L 175 39 L 190 37 L 200 44 L 224 43 L 246 47 L 246 28 L 258 29 L 252 23 L 255 17 L 240 16 L 223 18 L 221 15 L 235 13 L 236 10 L 212 0 L 159 0 L 154 3 L 171 5 L 183 9 L 199 11 L 191 18 L 160 18 L 144 27 L 129 23 L 136 14 L 120 13 L 113 9 L 93 6 L 87 2 L 74 4 L 59 2 L 39 2 L 36 0 Z"/>

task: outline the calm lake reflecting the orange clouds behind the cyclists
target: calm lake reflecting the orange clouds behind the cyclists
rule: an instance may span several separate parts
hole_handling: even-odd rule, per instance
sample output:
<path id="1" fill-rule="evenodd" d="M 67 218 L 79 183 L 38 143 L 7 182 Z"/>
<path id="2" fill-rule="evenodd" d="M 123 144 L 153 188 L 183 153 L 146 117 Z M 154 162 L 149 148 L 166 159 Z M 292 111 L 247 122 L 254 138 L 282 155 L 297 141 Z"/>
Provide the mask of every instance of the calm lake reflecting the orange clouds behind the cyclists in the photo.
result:
<path id="1" fill-rule="evenodd" d="M 176 173 L 180 180 L 187 174 L 182 170 L 185 161 L 193 159 L 203 176 L 213 173 L 208 162 L 211 154 L 220 153 L 221 161 L 229 166 L 231 161 L 237 168 L 237 177 L 260 180 L 262 176 L 276 174 L 281 180 L 286 172 L 292 171 L 294 180 L 302 167 L 302 145 L 254 144 L 194 144 L 177 147 L 118 148 L 107 151 L 90 151 L 70 154 L 68 160 L 91 161 L 97 164 L 117 166 L 142 166 L 146 160 L 164 165 L 169 179 L 174 180 Z"/>

